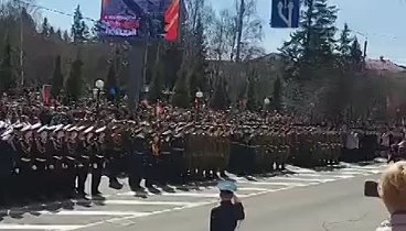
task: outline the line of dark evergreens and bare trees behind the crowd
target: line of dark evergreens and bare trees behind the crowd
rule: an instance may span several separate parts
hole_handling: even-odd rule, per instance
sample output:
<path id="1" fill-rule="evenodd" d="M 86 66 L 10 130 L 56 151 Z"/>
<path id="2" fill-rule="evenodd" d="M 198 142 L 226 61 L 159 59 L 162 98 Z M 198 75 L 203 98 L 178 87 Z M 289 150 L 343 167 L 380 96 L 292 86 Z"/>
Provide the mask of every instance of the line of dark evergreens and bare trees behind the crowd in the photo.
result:
<path id="1" fill-rule="evenodd" d="M 233 2 L 231 8 L 213 9 L 205 0 L 185 0 L 179 41 L 148 44 L 145 73 L 150 101 L 168 98 L 190 107 L 195 92 L 202 91 L 215 109 L 243 105 L 259 110 L 266 98 L 267 109 L 313 110 L 306 105 L 331 117 L 342 117 L 356 105 L 354 91 L 360 89 L 354 81 L 363 73 L 364 54 L 350 25 L 336 28 L 335 6 L 303 0 L 299 29 L 270 56 L 263 46 L 265 23 L 257 14 L 257 1 Z M 133 47 L 101 41 L 98 23 L 85 20 L 79 6 L 70 30 L 55 29 L 33 11 L 18 0 L 1 4 L 1 91 L 18 86 L 21 69 L 25 85 L 52 84 L 54 96 L 73 100 L 86 96 L 99 78 L 105 79 L 106 92 L 130 90 Z"/>

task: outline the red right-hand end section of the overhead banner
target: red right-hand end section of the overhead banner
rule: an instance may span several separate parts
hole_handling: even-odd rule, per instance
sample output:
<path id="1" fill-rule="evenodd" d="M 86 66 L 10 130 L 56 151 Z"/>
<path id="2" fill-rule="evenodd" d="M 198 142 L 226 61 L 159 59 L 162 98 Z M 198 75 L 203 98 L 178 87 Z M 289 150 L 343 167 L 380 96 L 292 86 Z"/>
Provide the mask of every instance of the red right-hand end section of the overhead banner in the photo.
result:
<path id="1" fill-rule="evenodd" d="M 165 38 L 169 42 L 177 42 L 179 36 L 180 0 L 172 0 L 172 4 L 165 12 Z"/>

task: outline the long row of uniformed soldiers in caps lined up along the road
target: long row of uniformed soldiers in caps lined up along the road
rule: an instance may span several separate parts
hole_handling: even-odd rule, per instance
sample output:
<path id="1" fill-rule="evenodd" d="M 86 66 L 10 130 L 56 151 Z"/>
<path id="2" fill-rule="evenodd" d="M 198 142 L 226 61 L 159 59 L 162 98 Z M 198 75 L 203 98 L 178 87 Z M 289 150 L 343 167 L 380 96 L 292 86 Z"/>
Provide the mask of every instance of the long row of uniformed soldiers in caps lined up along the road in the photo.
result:
<path id="1" fill-rule="evenodd" d="M 90 175 L 93 197 L 99 197 L 103 175 L 120 189 L 126 173 L 133 190 L 169 183 L 335 163 L 340 132 L 302 125 L 245 123 L 114 121 L 76 125 L 0 122 L 2 165 L 0 198 L 43 200 L 86 197 Z M 52 186 L 52 187 L 50 187 Z M 21 200 L 20 200 L 21 201 Z"/>

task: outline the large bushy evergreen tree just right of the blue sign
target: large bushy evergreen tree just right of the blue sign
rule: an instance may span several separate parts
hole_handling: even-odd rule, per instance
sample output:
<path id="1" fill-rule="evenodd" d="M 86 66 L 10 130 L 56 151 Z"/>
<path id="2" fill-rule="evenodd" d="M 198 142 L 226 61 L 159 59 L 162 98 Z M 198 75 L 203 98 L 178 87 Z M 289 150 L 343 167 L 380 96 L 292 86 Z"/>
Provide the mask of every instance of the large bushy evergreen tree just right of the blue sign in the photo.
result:
<path id="1" fill-rule="evenodd" d="M 311 72 L 334 64 L 334 35 L 336 28 L 336 7 L 329 6 L 328 0 L 304 0 L 300 28 L 285 42 L 280 52 L 293 65 L 289 75 L 307 78 Z"/>

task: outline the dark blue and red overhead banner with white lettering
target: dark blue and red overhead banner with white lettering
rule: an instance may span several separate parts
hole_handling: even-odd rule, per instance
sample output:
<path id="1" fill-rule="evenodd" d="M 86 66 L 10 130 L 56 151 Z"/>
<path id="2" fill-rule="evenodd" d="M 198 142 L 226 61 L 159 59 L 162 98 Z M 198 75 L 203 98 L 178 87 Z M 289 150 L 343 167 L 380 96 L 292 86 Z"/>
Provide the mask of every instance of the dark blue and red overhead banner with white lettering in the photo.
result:
<path id="1" fill-rule="evenodd" d="M 180 0 L 103 0 L 105 37 L 178 40 Z"/>

